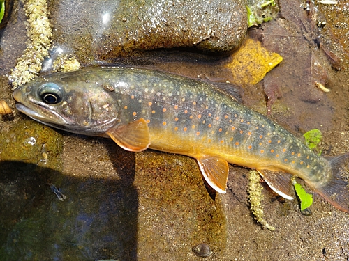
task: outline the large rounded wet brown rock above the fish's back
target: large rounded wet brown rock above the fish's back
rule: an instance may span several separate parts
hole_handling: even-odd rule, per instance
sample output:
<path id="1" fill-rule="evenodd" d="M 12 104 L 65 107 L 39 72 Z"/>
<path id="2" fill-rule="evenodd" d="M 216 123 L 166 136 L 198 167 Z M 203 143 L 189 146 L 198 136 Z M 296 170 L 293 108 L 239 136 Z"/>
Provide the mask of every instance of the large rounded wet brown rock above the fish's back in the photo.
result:
<path id="1" fill-rule="evenodd" d="M 80 61 L 114 61 L 134 52 L 189 48 L 230 52 L 247 29 L 244 1 L 54 1 L 54 43 Z"/>

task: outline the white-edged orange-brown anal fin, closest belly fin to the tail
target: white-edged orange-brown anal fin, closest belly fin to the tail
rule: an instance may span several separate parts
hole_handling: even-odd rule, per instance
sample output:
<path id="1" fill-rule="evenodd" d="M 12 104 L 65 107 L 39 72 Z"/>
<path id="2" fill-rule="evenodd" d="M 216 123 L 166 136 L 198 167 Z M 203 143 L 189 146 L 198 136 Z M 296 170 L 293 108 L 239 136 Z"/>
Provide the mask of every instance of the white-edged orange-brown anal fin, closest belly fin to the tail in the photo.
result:
<path id="1" fill-rule="evenodd" d="M 283 171 L 257 170 L 269 187 L 283 198 L 292 200 L 292 175 Z"/>

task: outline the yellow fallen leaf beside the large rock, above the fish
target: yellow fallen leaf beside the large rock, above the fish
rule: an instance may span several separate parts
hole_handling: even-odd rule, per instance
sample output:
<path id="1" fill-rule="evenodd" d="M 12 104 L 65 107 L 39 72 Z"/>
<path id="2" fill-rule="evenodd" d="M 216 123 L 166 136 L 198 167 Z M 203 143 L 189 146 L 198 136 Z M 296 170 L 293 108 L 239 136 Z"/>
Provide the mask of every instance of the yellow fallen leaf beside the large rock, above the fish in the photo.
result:
<path id="1" fill-rule="evenodd" d="M 257 84 L 282 60 L 279 54 L 268 52 L 260 42 L 247 39 L 242 47 L 232 54 L 232 61 L 226 66 L 232 71 L 233 83 L 246 86 Z"/>

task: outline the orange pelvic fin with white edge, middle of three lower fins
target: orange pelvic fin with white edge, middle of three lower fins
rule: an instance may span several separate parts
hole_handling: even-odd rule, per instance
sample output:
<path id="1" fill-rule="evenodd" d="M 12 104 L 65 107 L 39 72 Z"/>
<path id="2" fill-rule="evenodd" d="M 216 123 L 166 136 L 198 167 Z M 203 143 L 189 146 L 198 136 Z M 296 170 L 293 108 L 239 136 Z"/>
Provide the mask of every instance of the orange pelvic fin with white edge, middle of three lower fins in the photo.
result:
<path id="1" fill-rule="evenodd" d="M 228 162 L 218 157 L 200 157 L 198 164 L 207 183 L 219 193 L 225 193 L 227 187 Z"/>

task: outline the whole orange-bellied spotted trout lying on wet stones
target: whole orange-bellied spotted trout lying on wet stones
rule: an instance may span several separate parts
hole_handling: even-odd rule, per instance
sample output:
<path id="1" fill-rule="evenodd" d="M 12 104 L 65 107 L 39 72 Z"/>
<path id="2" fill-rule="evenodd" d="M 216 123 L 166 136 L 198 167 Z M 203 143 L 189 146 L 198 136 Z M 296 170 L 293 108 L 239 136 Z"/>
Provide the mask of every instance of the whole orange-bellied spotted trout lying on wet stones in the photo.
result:
<path id="1" fill-rule="evenodd" d="M 343 165 L 349 154 L 321 157 L 293 134 L 207 81 L 144 68 L 83 68 L 43 75 L 15 89 L 18 111 L 54 128 L 111 138 L 125 150 L 147 148 L 193 157 L 207 183 L 225 193 L 228 164 L 255 169 L 292 199 L 299 177 L 349 213 Z"/>

